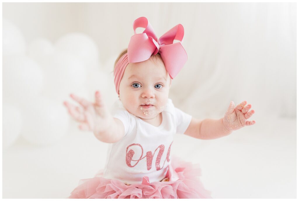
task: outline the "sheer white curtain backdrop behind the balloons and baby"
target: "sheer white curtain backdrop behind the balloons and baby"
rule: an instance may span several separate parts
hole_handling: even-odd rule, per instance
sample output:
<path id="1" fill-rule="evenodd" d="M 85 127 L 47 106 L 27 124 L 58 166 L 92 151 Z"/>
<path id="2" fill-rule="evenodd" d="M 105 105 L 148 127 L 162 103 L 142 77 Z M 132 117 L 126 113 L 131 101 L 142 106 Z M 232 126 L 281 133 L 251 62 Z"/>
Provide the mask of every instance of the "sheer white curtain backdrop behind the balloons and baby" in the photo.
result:
<path id="1" fill-rule="evenodd" d="M 170 97 L 176 105 L 199 118 L 216 118 L 231 100 L 247 100 L 259 115 L 296 117 L 295 3 L 3 6 L 4 18 L 18 25 L 26 42 L 41 36 L 54 42 L 64 33 L 83 32 L 97 43 L 102 63 L 127 47 L 138 17 L 147 17 L 158 37 L 180 23 L 188 61 L 173 80 Z"/>

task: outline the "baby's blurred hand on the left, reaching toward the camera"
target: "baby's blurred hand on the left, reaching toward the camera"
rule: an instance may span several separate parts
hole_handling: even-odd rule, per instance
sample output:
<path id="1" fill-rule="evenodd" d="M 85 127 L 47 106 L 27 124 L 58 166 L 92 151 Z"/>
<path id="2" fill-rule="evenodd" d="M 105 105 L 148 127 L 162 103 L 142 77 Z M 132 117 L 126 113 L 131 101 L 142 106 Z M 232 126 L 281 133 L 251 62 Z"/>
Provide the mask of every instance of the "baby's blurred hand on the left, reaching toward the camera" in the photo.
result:
<path id="1" fill-rule="evenodd" d="M 97 133 L 106 130 L 109 127 L 112 121 L 112 116 L 104 105 L 100 92 L 95 92 L 94 103 L 73 94 L 70 96 L 83 106 L 79 107 L 68 103 L 67 101 L 63 102 L 68 108 L 70 115 L 78 122 L 82 123 L 79 125 L 81 130 L 89 130 Z"/>

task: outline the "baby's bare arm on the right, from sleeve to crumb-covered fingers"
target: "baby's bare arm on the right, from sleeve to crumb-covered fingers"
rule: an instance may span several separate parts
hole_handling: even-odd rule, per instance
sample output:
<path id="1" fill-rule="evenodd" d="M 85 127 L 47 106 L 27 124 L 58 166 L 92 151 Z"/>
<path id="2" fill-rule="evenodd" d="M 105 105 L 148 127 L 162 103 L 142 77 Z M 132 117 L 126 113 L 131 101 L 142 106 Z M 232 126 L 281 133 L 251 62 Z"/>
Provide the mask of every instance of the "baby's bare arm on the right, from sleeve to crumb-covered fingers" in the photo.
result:
<path id="1" fill-rule="evenodd" d="M 192 118 L 189 127 L 184 134 L 199 139 L 216 139 L 231 134 L 234 130 L 238 130 L 245 126 L 255 124 L 255 121 L 247 121 L 254 114 L 254 110 L 248 112 L 251 104 L 243 101 L 236 107 L 231 101 L 228 110 L 221 119 L 204 119 L 198 120 Z"/>

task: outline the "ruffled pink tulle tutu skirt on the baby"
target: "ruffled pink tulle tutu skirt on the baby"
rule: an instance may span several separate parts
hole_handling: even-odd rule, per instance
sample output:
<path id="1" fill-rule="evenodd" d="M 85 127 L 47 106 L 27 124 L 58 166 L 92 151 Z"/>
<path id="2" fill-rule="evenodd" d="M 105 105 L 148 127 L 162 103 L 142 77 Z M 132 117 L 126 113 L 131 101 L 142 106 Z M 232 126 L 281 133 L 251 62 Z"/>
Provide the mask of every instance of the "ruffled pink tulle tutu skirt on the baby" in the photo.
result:
<path id="1" fill-rule="evenodd" d="M 144 176 L 141 184 L 132 185 L 103 178 L 101 171 L 94 178 L 81 179 L 68 198 L 212 198 L 211 192 L 199 180 L 199 164 L 172 157 L 170 166 L 162 181 L 150 183 L 148 177 Z M 173 174 L 179 179 L 171 181 L 169 178 Z"/>

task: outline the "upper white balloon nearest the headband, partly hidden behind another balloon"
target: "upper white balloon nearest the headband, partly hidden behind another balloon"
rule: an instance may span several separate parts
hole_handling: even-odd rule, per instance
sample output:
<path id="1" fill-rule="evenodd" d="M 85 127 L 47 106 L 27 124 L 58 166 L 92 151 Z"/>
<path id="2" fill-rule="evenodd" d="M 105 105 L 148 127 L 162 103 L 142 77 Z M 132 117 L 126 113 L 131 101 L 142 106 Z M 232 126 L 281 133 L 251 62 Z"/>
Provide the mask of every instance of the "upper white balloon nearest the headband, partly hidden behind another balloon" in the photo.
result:
<path id="1" fill-rule="evenodd" d="M 99 50 L 91 37 L 83 33 L 68 33 L 55 43 L 57 50 L 66 51 L 82 60 L 86 67 L 99 58 Z"/>

